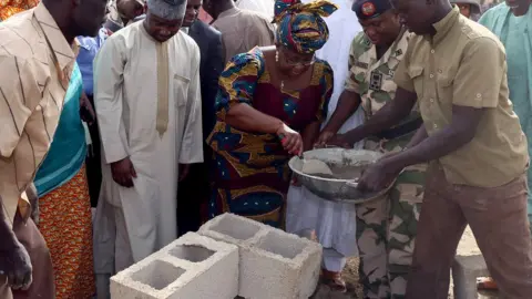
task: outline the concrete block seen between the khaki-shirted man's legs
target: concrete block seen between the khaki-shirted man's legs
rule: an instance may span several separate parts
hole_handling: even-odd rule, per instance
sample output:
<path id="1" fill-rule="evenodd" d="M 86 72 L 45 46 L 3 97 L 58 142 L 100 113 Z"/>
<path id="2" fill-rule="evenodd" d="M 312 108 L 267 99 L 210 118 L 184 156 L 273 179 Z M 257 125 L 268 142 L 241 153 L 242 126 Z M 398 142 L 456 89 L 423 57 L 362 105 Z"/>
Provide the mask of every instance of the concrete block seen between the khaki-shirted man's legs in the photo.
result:
<path id="1" fill-rule="evenodd" d="M 490 276 L 477 240 L 468 227 L 457 249 L 452 264 L 454 299 L 477 299 L 477 278 Z"/>

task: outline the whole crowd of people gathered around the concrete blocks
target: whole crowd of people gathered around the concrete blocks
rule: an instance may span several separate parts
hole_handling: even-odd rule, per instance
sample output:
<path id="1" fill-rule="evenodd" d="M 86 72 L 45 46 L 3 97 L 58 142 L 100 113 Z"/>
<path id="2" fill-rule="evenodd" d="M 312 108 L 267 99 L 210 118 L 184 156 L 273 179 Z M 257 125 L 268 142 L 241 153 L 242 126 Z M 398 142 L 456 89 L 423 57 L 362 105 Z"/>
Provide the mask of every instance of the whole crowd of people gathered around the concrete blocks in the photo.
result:
<path id="1" fill-rule="evenodd" d="M 110 278 L 234 213 L 319 241 L 321 280 L 447 298 L 467 225 L 532 293 L 532 0 L 0 0 L 0 298 Z M 288 161 L 383 153 L 320 198 Z"/>

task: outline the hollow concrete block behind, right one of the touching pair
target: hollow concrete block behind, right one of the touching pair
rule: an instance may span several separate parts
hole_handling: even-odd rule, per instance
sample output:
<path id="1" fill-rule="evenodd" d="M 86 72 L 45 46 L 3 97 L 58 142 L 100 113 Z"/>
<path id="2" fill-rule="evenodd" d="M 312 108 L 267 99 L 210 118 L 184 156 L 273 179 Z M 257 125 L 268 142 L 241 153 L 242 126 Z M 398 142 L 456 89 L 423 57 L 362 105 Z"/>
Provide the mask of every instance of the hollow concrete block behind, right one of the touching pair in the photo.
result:
<path id="1" fill-rule="evenodd" d="M 247 299 L 307 299 L 316 290 L 323 248 L 318 243 L 232 214 L 200 234 L 239 247 L 238 295 Z"/>

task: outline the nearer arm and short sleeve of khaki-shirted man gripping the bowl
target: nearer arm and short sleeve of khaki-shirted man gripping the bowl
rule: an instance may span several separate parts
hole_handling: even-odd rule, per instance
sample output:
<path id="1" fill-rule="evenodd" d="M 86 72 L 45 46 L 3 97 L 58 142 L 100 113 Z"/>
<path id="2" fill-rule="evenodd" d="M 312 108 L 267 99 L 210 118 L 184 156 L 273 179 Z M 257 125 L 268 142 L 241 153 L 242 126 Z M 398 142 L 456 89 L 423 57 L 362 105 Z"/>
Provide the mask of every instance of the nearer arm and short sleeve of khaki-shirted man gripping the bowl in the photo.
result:
<path id="1" fill-rule="evenodd" d="M 376 167 L 387 169 L 386 175 L 369 172 L 362 188 L 381 188 L 390 182 L 390 175 L 400 169 L 438 159 L 471 142 L 482 116 L 499 104 L 500 85 L 505 80 L 505 54 L 495 41 L 490 38 L 471 41 L 453 81 L 451 124 L 433 132 L 418 145 L 383 159 Z"/>

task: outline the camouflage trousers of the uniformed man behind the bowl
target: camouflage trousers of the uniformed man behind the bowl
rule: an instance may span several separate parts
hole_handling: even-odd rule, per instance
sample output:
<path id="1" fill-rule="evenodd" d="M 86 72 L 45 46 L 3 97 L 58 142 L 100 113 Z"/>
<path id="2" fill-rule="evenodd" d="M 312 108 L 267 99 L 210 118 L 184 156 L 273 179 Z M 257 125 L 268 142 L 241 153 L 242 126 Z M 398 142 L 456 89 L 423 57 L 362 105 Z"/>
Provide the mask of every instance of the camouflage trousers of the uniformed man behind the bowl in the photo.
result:
<path id="1" fill-rule="evenodd" d="M 406 141 L 375 143 L 365 148 L 400 151 Z M 357 206 L 359 277 L 364 298 L 405 298 L 412 262 L 427 165 L 413 165 L 398 177 L 390 193 Z"/>

